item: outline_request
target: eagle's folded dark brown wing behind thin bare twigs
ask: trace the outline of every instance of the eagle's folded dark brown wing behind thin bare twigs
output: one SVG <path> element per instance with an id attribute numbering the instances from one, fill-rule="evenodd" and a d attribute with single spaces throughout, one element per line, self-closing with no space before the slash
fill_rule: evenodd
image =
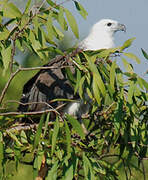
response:
<path id="1" fill-rule="evenodd" d="M 53 69 L 40 70 L 32 77 L 23 88 L 21 103 L 31 103 L 30 105 L 20 104 L 18 110 L 41 111 L 49 108 L 43 102 L 48 103 L 53 108 L 63 102 L 51 102 L 53 99 L 74 99 L 73 88 L 61 70 L 61 66 L 69 65 L 69 61 L 64 56 L 56 56 L 45 66 L 54 66 Z M 74 71 L 74 67 L 71 68 Z M 78 98 L 78 97 L 77 97 Z M 37 103 L 36 103 L 37 102 Z"/>

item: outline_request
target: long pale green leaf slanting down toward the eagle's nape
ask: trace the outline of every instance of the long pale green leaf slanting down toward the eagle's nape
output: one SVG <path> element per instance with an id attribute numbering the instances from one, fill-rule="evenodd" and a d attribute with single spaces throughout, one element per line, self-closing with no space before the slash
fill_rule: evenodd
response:
<path id="1" fill-rule="evenodd" d="M 64 11 L 72 32 L 74 33 L 76 38 L 79 38 L 79 30 L 75 18 L 68 9 L 65 8 Z"/>

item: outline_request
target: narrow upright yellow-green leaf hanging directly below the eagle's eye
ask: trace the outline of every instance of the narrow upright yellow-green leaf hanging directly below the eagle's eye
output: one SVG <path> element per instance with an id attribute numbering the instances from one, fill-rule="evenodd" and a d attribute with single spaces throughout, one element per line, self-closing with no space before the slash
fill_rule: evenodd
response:
<path id="1" fill-rule="evenodd" d="M 113 90 L 113 92 L 115 92 L 115 69 L 116 69 L 116 61 L 114 61 L 111 65 L 111 69 L 110 69 L 110 86 Z"/>

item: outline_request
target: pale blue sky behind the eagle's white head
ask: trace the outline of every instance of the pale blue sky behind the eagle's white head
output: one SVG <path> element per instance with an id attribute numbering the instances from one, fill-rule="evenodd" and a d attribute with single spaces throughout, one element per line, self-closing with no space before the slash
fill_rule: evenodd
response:
<path id="1" fill-rule="evenodd" d="M 148 70 L 148 60 L 141 53 L 141 48 L 148 52 L 148 0 L 79 0 L 79 2 L 88 12 L 86 20 L 77 13 L 72 2 L 67 2 L 65 7 L 71 10 L 77 20 L 80 38 L 84 38 L 91 26 L 102 18 L 114 19 L 125 24 L 127 32 L 116 33 L 115 43 L 122 45 L 127 39 L 136 37 L 127 51 L 136 54 L 141 59 L 141 64 L 130 62 L 133 63 L 136 73 L 148 80 L 148 75 L 144 75 Z"/>

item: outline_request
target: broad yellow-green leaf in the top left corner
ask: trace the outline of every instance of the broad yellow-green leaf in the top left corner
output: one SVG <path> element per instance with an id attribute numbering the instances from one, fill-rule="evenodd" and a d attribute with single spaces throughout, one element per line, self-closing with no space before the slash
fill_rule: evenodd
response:
<path id="1" fill-rule="evenodd" d="M 3 16 L 7 18 L 21 18 L 22 13 L 13 3 L 5 3 L 3 7 Z"/>

